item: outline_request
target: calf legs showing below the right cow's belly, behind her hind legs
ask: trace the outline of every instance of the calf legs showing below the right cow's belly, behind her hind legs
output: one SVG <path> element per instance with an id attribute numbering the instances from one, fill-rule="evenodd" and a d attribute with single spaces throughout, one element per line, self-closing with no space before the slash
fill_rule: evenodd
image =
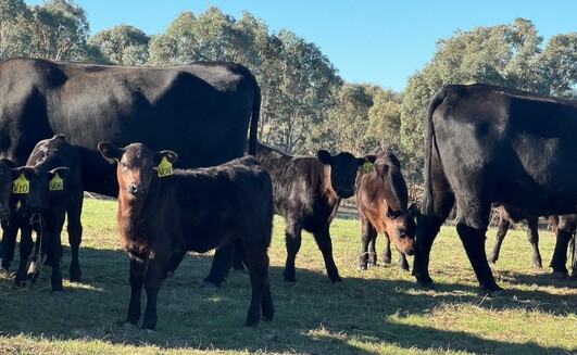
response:
<path id="1" fill-rule="evenodd" d="M 532 264 L 539 268 L 542 267 L 541 254 L 539 253 L 539 217 L 526 213 L 524 210 L 515 208 L 510 205 L 500 204 L 497 207 L 499 212 L 499 226 L 497 228 L 497 239 L 494 241 L 493 250 L 489 256 L 489 263 L 497 263 L 499 259 L 499 252 L 501 244 L 505 239 L 506 232 L 511 225 L 517 224 L 520 220 L 527 220 L 527 239 L 532 246 Z"/>

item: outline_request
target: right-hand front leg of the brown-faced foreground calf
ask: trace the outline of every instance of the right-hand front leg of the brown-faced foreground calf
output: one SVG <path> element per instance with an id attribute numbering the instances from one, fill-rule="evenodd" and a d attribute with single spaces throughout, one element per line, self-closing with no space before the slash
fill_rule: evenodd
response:
<path id="1" fill-rule="evenodd" d="M 156 302 L 160 287 L 166 275 L 168 259 L 173 255 L 170 250 L 153 251 L 154 257 L 149 261 L 145 274 L 145 291 L 147 292 L 147 306 L 142 317 L 142 329 L 156 328 Z"/>

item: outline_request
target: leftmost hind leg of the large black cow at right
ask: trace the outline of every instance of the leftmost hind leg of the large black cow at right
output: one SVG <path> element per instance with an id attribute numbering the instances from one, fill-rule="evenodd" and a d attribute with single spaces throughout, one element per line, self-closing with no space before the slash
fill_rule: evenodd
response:
<path id="1" fill-rule="evenodd" d="M 423 205 L 417 219 L 417 232 L 415 238 L 415 256 L 413 259 L 413 276 L 418 283 L 427 288 L 435 284 L 429 276 L 429 256 L 432 242 L 439 232 L 454 204 L 454 194 L 442 174 L 440 162 L 434 157 L 430 176 L 430 194 L 428 188 L 423 195 Z"/>

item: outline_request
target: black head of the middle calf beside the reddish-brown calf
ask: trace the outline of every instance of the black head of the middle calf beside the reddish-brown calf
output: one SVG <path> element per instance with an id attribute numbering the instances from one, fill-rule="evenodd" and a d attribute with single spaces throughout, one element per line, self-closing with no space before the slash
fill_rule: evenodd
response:
<path id="1" fill-rule="evenodd" d="M 348 152 L 330 155 L 326 150 L 319 150 L 316 154 L 318 161 L 330 166 L 330 185 L 339 198 L 348 199 L 354 194 L 355 178 L 359 166 L 365 162 L 374 163 L 375 155 L 355 157 Z"/>

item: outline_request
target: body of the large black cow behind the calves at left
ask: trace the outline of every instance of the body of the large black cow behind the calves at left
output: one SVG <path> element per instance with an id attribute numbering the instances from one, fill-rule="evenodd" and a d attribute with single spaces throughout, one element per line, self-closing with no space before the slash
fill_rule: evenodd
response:
<path id="1" fill-rule="evenodd" d="M 181 154 L 179 166 L 211 166 L 243 155 L 250 122 L 255 151 L 261 91 L 239 64 L 152 68 L 10 59 L 0 63 L 0 156 L 24 165 L 38 141 L 63 134 L 80 153 L 87 191 L 118 193 L 114 168 L 97 150 L 104 140 L 168 148 Z"/>

